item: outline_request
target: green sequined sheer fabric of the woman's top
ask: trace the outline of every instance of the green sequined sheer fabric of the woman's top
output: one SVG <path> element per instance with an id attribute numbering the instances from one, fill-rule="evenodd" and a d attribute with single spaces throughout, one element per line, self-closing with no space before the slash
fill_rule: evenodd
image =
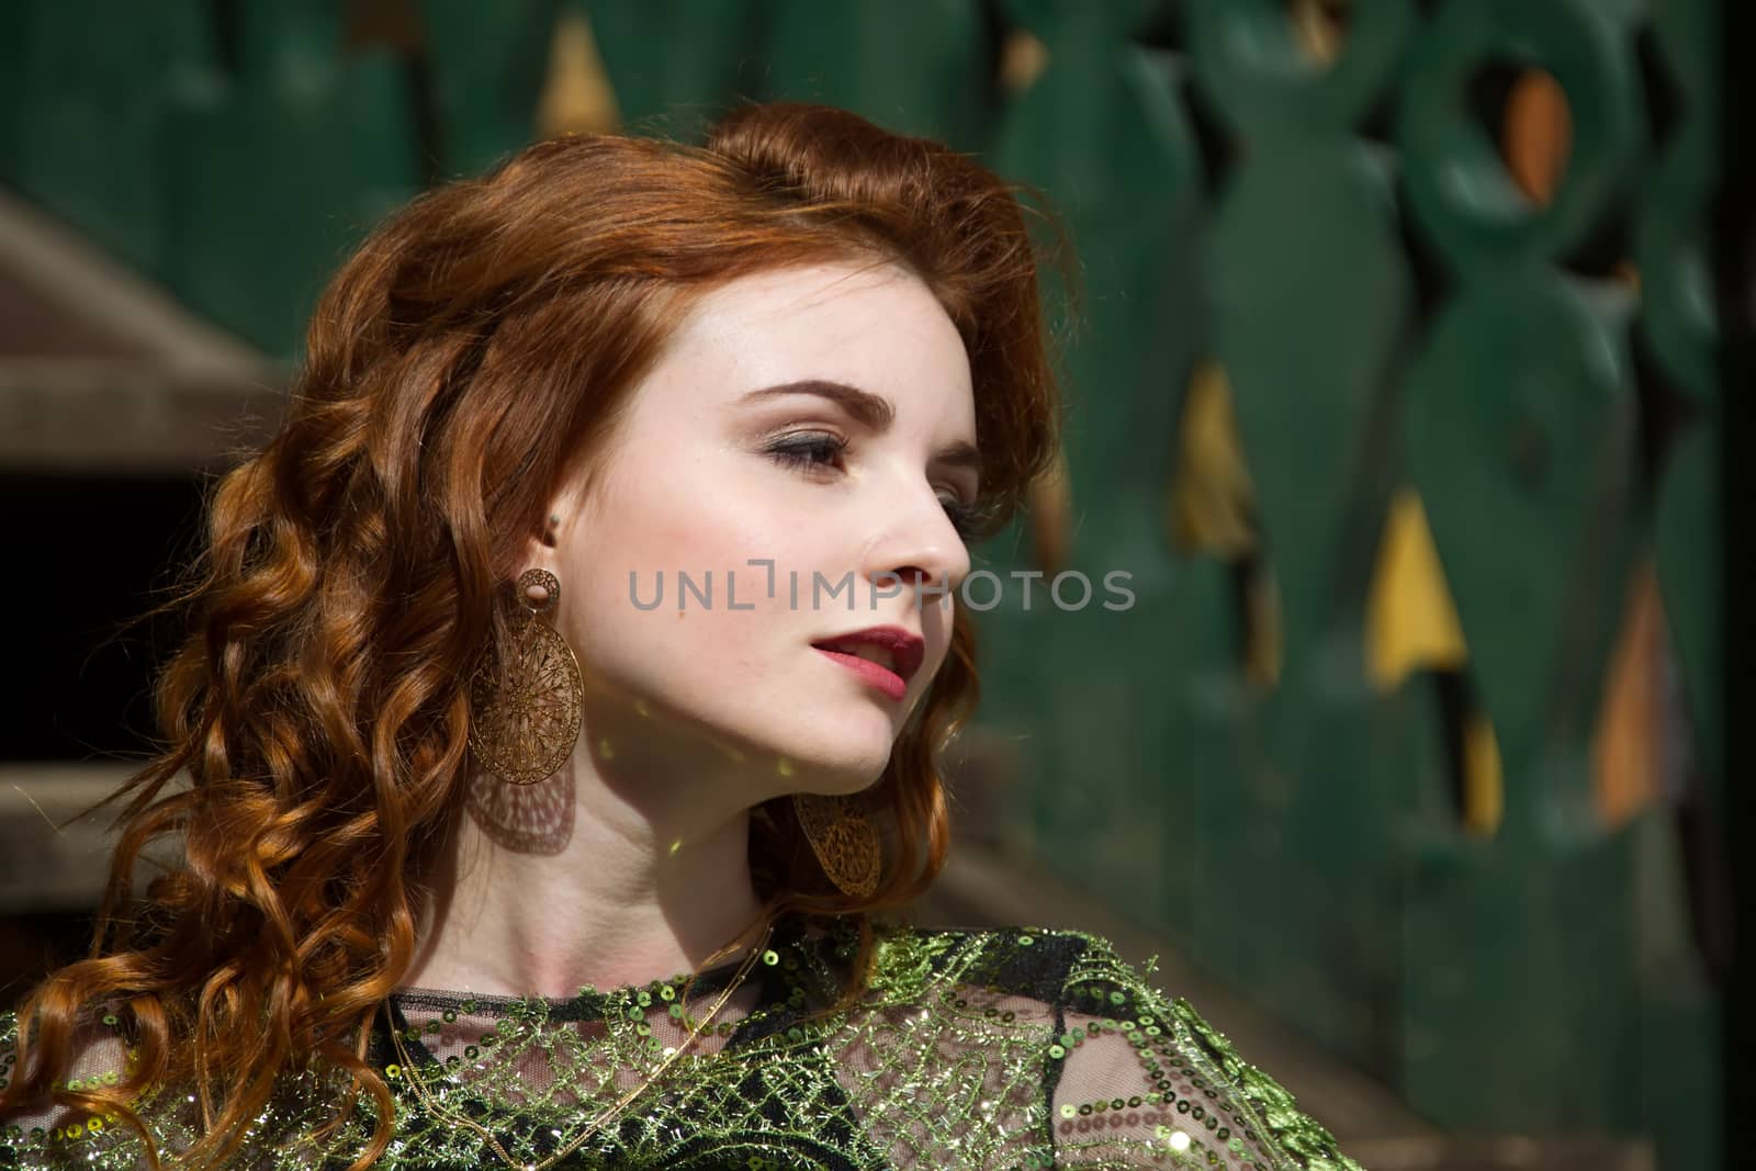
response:
<path id="1" fill-rule="evenodd" d="M 862 999 L 825 1015 L 853 946 L 843 922 L 778 925 L 695 1045 L 555 1167 L 1359 1171 L 1284 1088 L 1101 938 L 882 925 Z M 397 994 L 371 1039 L 397 1101 L 395 1139 L 378 1166 L 504 1166 L 476 1131 L 435 1117 L 414 1078 L 441 1111 L 472 1118 L 520 1164 L 544 1160 L 648 1078 L 732 974 L 702 973 L 687 1004 L 681 981 L 564 1001 Z M 0 1062 L 14 1060 L 14 1039 L 16 1022 L 0 1017 Z M 109 1050 L 125 1055 L 121 1041 Z M 102 1066 L 88 1060 L 79 1073 L 114 1080 L 114 1062 Z M 311 1141 L 334 1092 L 321 1074 L 286 1076 L 237 1166 L 346 1166 L 371 1115 L 360 1108 Z M 186 1094 L 162 1087 L 140 1106 L 162 1150 L 193 1139 Z M 144 1166 L 140 1152 L 137 1136 L 105 1118 L 9 1118 L 0 1131 L 0 1166 L 123 1171 Z"/>

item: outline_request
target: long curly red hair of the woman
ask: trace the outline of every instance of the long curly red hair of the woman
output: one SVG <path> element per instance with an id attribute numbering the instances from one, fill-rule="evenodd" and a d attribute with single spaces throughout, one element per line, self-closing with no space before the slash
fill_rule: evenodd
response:
<path id="1" fill-rule="evenodd" d="M 276 1080 L 318 1059 L 376 1099 L 355 1166 L 383 1152 L 392 1099 L 365 1041 L 411 966 L 420 876 L 464 802 L 464 681 L 499 634 L 497 590 L 694 298 L 848 258 L 906 267 L 962 334 L 997 527 L 1054 458 L 1036 249 L 1013 190 L 939 144 L 841 111 L 753 105 L 704 147 L 541 142 L 365 241 L 316 307 L 281 430 L 211 500 L 179 599 L 191 634 L 158 681 L 167 748 L 116 795 L 91 957 L 21 1008 L 0 1113 L 54 1103 L 144 1134 L 130 1101 L 184 1083 L 205 1127 L 188 1155 L 212 1166 Z M 871 899 L 827 883 L 790 802 L 757 809 L 752 866 L 771 913 L 855 915 L 869 945 L 867 911 L 931 885 L 948 836 L 936 753 L 976 686 L 959 611 L 873 788 L 890 857 Z M 130 874 L 156 841 L 181 862 L 137 894 Z M 116 1085 L 70 1090 L 98 1004 L 125 1022 L 133 1062 Z"/>

